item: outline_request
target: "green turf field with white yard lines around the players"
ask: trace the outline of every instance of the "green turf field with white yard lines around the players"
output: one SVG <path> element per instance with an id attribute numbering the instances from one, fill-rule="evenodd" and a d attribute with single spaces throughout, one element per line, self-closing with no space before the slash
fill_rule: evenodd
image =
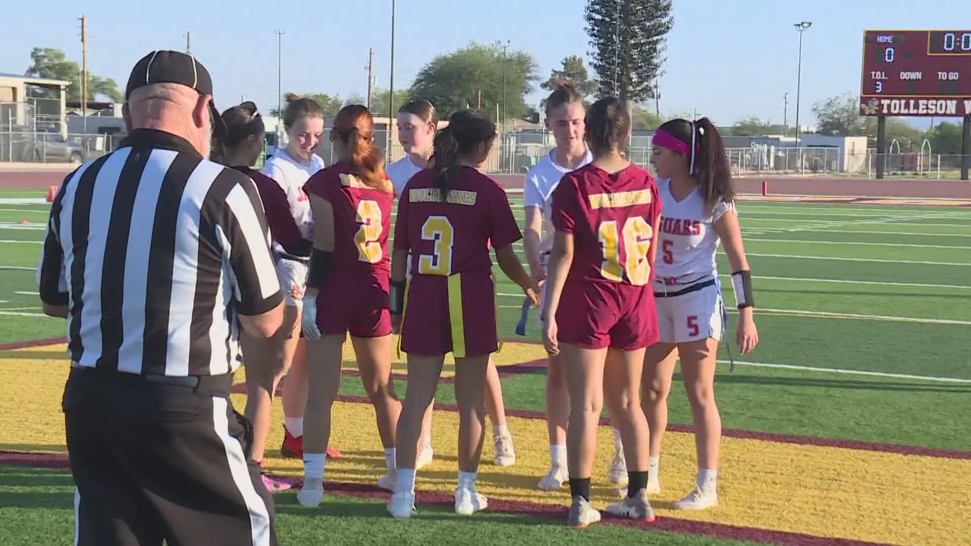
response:
<path id="1" fill-rule="evenodd" d="M 2 190 L 0 197 L 44 193 Z M 510 200 L 521 221 L 521 197 Z M 0 344 L 65 334 L 63 321 L 41 313 L 34 281 L 48 208 L 0 204 Z M 739 214 L 760 345 L 744 358 L 733 347 L 733 372 L 722 346 L 723 426 L 971 451 L 971 209 L 742 202 Z M 728 271 L 723 256 L 720 271 Z M 496 274 L 502 336 L 537 341 L 534 315 L 527 337 L 515 335 L 522 294 Z M 509 409 L 542 411 L 544 389 L 542 370 L 503 379 Z M 671 423 L 690 424 L 680 389 L 671 396 Z M 341 391 L 364 395 L 356 377 L 344 377 Z M 453 403 L 452 386 L 443 385 L 437 399 Z M 0 544 L 34 544 L 42 529 L 70 536 L 71 493 L 63 471 L 0 466 L 0 520 L 11 522 L 0 526 Z M 400 525 L 379 501 L 328 497 L 309 511 L 292 494 L 275 498 L 285 544 L 359 543 L 362 534 L 394 544 L 732 543 L 615 526 L 578 535 L 561 522 L 504 514 L 477 517 L 473 534 L 450 507 L 422 509 Z"/>

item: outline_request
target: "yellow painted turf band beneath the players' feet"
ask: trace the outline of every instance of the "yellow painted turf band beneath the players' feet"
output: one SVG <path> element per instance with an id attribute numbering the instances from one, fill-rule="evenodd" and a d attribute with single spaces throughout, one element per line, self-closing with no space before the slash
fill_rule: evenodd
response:
<path id="1" fill-rule="evenodd" d="M 0 397 L 0 450 L 65 453 L 61 390 L 68 373 L 64 346 L 0 352 L 5 395 Z M 234 394 L 242 409 L 245 396 Z M 374 484 L 385 472 L 382 446 L 368 404 L 337 403 L 331 446 L 344 457 L 327 463 L 327 480 Z M 301 462 L 273 457 L 282 440 L 283 414 L 274 405 L 274 427 L 267 466 L 299 475 Z M 479 489 L 494 498 L 565 504 L 568 493 L 536 489 L 549 463 L 546 424 L 510 417 L 517 463 L 491 464 L 486 433 Z M 419 471 L 418 488 L 451 493 L 455 487 L 458 416 L 439 411 L 433 425 L 435 461 Z M 966 491 L 971 461 L 904 456 L 886 452 L 724 438 L 720 470 L 720 506 L 700 513 L 670 509 L 693 482 L 693 437 L 669 432 L 661 458 L 658 514 L 693 521 L 801 532 L 825 537 L 893 544 L 971 544 Z M 600 427 L 593 473 L 594 504 L 615 498 L 607 488 L 613 456 L 610 428 Z"/>

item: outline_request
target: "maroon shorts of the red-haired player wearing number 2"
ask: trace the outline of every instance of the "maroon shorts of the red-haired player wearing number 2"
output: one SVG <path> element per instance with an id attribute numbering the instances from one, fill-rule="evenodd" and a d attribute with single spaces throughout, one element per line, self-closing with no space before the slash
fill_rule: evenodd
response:
<path id="1" fill-rule="evenodd" d="M 354 337 L 391 333 L 387 273 L 331 273 L 317 296 L 317 326 L 323 335 Z"/>

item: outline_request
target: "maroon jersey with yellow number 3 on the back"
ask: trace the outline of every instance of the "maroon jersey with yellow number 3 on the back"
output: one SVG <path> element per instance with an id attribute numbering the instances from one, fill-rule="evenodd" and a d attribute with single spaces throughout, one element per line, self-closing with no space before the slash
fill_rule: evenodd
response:
<path id="1" fill-rule="evenodd" d="M 506 191 L 462 167 L 443 202 L 431 170 L 412 177 L 398 201 L 394 248 L 411 251 L 413 275 L 491 274 L 489 241 L 503 248 L 522 233 Z"/>

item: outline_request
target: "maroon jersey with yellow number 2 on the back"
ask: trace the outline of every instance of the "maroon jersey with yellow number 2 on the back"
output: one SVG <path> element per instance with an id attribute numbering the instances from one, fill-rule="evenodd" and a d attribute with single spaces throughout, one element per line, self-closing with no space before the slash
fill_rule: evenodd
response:
<path id="1" fill-rule="evenodd" d="M 391 231 L 394 193 L 390 181 L 385 188 L 371 188 L 350 174 L 346 161 L 319 170 L 304 185 L 304 191 L 330 202 L 334 211 L 334 251 L 330 258 L 335 272 L 389 271 L 387 236 Z"/>

